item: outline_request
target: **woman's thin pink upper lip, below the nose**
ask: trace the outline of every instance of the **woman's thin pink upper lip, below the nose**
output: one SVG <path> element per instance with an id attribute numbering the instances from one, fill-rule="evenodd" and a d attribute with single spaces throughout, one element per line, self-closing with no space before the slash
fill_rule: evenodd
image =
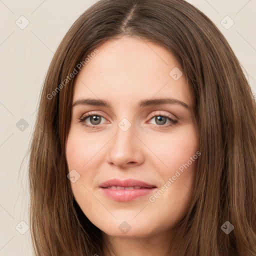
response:
<path id="1" fill-rule="evenodd" d="M 137 180 L 137 179 L 125 179 L 120 180 L 117 178 L 109 179 L 99 185 L 100 187 L 108 187 L 108 186 L 123 186 L 123 187 L 129 187 L 129 186 L 140 186 L 140 187 L 146 187 L 146 188 L 154 188 L 155 185 L 149 184 L 147 182 Z"/>

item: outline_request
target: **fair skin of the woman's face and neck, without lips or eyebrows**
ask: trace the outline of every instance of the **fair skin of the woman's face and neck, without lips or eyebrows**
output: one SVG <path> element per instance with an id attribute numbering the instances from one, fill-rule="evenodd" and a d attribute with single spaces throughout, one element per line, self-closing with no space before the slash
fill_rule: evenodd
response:
<path id="1" fill-rule="evenodd" d="M 69 171 L 75 169 L 80 177 L 71 183 L 72 192 L 84 214 L 111 240 L 116 255 L 163 255 L 167 235 L 174 235 L 173 226 L 188 210 L 197 160 L 153 202 L 149 196 L 155 191 L 120 202 L 106 197 L 99 185 L 111 178 L 138 179 L 158 189 L 166 184 L 198 150 L 192 94 L 184 74 L 177 80 L 169 75 L 181 67 L 161 45 L 123 36 L 97 49 L 76 77 L 73 102 L 104 99 L 111 108 L 73 106 L 66 159 Z M 162 97 L 178 99 L 190 108 L 178 103 L 138 106 L 140 100 Z M 88 112 L 103 116 L 100 123 L 90 118 L 79 122 Z M 156 119 L 159 115 L 177 122 L 167 118 L 162 124 Z M 123 118 L 131 124 L 126 131 L 118 126 Z M 85 123 L 96 123 L 98 128 Z M 123 221 L 131 227 L 126 233 L 118 228 Z"/>

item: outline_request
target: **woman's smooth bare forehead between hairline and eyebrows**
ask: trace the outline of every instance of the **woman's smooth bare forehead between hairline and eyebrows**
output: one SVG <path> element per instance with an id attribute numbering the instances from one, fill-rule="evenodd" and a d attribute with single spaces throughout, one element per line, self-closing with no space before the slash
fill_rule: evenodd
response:
<path id="1" fill-rule="evenodd" d="M 163 46 L 128 36 L 111 39 L 97 47 L 78 73 L 73 101 L 82 97 L 134 102 L 141 98 L 170 96 L 191 105 L 185 75 Z M 174 77 L 175 78 L 175 77 Z"/>

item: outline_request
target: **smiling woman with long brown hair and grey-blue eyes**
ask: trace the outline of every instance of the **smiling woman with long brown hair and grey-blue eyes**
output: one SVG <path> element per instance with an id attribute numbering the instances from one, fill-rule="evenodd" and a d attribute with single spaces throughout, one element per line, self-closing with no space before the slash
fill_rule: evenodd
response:
<path id="1" fill-rule="evenodd" d="M 255 255 L 256 105 L 183 0 L 100 0 L 48 69 L 30 149 L 36 255 Z"/>

